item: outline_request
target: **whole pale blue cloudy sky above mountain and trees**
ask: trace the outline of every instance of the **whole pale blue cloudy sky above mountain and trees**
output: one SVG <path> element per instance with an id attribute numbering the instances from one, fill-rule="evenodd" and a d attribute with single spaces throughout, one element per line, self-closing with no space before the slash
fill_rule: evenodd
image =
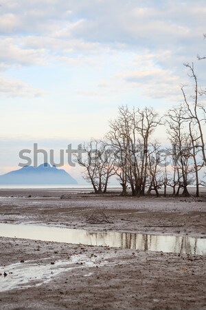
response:
<path id="1" fill-rule="evenodd" d="M 183 63 L 205 85 L 205 16 L 205 0 L 1 0 L 0 174 L 34 143 L 58 156 L 104 137 L 120 105 L 178 105 Z"/>

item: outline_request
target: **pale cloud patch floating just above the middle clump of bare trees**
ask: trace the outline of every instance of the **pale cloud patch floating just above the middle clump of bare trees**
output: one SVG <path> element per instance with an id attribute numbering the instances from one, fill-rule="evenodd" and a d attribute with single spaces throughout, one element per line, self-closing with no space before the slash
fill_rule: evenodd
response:
<path id="1" fill-rule="evenodd" d="M 185 78 L 176 74 L 178 70 L 175 70 L 175 66 L 173 70 L 165 67 L 164 62 L 172 63 L 171 57 L 170 51 L 157 54 L 145 51 L 134 55 L 130 70 L 122 70 L 117 74 L 117 79 L 123 79 L 128 87 L 136 87 L 147 98 L 179 101 L 182 99 L 180 85 Z"/>

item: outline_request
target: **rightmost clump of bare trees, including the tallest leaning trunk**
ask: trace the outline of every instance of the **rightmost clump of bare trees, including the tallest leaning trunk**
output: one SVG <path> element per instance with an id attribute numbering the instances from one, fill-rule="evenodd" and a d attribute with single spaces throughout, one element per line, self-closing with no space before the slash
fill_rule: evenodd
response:
<path id="1" fill-rule="evenodd" d="M 189 196 L 187 185 L 195 185 L 196 196 L 199 196 L 199 185 L 205 185 L 199 172 L 206 165 L 203 136 L 206 122 L 203 99 L 206 92 L 198 88 L 194 65 L 185 64 L 185 67 L 194 82 L 193 93 L 187 94 L 186 87 L 181 87 L 183 103 L 170 109 L 166 118 L 169 140 L 173 145 L 172 186 L 178 186 L 177 194 L 182 187 L 183 194 Z"/>

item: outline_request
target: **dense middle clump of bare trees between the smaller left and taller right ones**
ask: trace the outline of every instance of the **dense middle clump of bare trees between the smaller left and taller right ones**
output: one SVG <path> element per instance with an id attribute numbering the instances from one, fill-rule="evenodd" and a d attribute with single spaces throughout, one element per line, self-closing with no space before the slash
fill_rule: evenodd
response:
<path id="1" fill-rule="evenodd" d="M 154 148 L 150 143 L 151 136 L 160 123 L 155 110 L 148 107 L 144 110 L 133 108 L 132 111 L 128 107 L 119 107 L 119 115 L 110 121 L 106 141 L 115 154 L 115 173 L 122 185 L 122 194 L 126 194 L 128 185 L 133 196 L 145 194 L 148 172 L 152 176 L 150 166 L 153 168 L 150 165 Z M 153 177 L 151 184 L 155 186 Z"/>

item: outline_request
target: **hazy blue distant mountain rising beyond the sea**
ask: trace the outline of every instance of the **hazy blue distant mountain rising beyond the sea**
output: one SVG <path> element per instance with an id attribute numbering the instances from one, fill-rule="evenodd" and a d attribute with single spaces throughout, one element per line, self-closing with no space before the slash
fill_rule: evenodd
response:
<path id="1" fill-rule="evenodd" d="M 55 185 L 78 184 L 64 169 L 57 169 L 48 163 L 38 167 L 25 166 L 0 176 L 1 185 Z"/>

